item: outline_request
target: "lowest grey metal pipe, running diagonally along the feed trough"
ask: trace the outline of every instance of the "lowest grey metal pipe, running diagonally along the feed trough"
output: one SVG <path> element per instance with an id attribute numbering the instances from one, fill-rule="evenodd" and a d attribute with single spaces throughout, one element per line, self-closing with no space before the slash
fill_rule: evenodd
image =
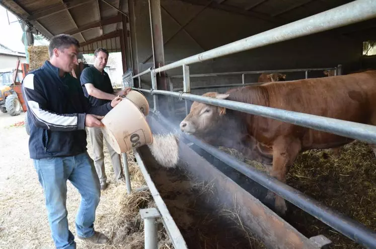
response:
<path id="1" fill-rule="evenodd" d="M 156 115 L 156 114 L 155 114 Z M 161 114 L 156 115 L 160 118 L 168 127 L 172 127 L 166 117 Z M 176 130 L 176 129 L 174 129 Z M 220 151 L 219 149 L 202 142 L 192 135 L 186 135 L 179 132 L 186 139 L 196 144 L 201 149 L 205 150 L 209 154 L 218 158 L 222 162 L 228 164 L 234 169 L 238 170 L 242 174 L 248 176 L 254 181 L 260 183 L 268 190 L 281 196 L 283 199 L 297 206 L 298 208 L 313 215 L 315 218 L 321 220 L 328 226 L 336 229 L 345 236 L 354 240 L 355 242 L 368 246 L 369 248 L 375 248 L 376 246 L 376 233 L 363 224 L 346 217 L 345 215 L 336 212 L 324 204 L 316 201 L 315 199 L 305 195 L 304 193 L 295 190 L 289 185 L 277 180 L 276 178 L 267 175 L 254 167 L 250 167 L 248 164 L 237 160 L 235 157 Z"/>

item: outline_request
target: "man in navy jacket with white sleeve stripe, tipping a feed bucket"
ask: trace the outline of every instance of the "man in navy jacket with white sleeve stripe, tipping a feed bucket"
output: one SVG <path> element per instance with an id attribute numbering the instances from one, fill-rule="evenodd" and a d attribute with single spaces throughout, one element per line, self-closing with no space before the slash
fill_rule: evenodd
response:
<path id="1" fill-rule="evenodd" d="M 79 42 L 69 35 L 54 36 L 50 59 L 30 72 L 22 82 L 27 103 L 29 151 L 46 199 L 48 222 L 56 248 L 76 248 L 68 229 L 66 181 L 81 194 L 76 217 L 77 236 L 94 243 L 108 238 L 94 230 L 100 200 L 99 178 L 87 153 L 85 127 L 101 127 L 100 121 L 120 102 L 93 107 L 78 79 L 69 75 L 78 63 Z M 98 115 L 98 116 L 97 116 Z"/>

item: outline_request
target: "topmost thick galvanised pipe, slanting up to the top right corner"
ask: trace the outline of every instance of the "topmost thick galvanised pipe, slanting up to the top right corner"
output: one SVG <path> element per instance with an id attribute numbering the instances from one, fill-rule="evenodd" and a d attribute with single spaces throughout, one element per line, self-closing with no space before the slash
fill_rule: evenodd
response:
<path id="1" fill-rule="evenodd" d="M 335 29 L 376 17 L 376 1 L 356 0 L 337 8 L 307 17 L 166 65 L 156 73 L 193 63 L 262 47 L 322 31 Z"/>

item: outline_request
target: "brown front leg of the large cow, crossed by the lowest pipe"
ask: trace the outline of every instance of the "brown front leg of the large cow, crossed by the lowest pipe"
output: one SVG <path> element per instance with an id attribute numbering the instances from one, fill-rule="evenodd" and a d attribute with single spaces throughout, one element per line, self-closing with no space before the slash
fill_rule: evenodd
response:
<path id="1" fill-rule="evenodd" d="M 286 183 L 288 168 L 301 149 L 302 146 L 298 139 L 279 137 L 273 144 L 273 167 L 270 175 Z M 274 206 L 276 211 L 282 215 L 287 211 L 285 200 L 278 195 L 275 197 Z"/>

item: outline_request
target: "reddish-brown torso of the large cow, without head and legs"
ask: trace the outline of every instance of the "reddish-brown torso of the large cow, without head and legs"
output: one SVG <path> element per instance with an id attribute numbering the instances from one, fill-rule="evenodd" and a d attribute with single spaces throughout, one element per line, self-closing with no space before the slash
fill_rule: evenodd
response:
<path id="1" fill-rule="evenodd" d="M 244 87 L 232 91 L 228 99 L 376 125 L 376 71 Z M 278 136 L 299 137 L 305 149 L 349 142 L 347 138 L 271 118 L 247 115 L 245 121 L 249 133 L 267 145 Z"/>

